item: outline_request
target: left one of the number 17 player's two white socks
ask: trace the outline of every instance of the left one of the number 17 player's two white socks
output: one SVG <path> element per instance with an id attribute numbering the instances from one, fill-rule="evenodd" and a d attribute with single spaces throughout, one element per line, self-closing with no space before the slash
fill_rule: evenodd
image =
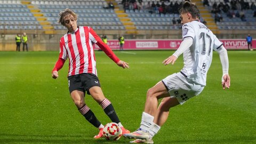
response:
<path id="1" fill-rule="evenodd" d="M 154 116 L 149 115 L 148 113 L 143 112 L 141 117 L 140 129 L 142 131 L 149 131 L 151 124 L 153 123 Z"/>

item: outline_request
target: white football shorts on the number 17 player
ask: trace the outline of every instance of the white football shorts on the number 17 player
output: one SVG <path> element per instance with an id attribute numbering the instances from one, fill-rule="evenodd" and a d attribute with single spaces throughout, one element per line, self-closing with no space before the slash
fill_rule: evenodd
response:
<path id="1" fill-rule="evenodd" d="M 180 105 L 200 94 L 204 86 L 190 81 L 186 75 L 175 73 L 162 80 L 171 97 L 176 97 Z"/>

